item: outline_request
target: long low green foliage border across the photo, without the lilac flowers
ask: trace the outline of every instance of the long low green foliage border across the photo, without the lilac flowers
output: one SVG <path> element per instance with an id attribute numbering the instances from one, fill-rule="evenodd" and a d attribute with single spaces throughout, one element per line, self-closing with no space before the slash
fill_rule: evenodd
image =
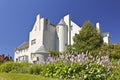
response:
<path id="1" fill-rule="evenodd" d="M 120 66 L 113 69 L 94 61 L 88 63 L 64 62 L 59 61 L 50 64 L 34 64 L 6 62 L 0 65 L 0 72 L 6 73 L 30 73 L 35 75 L 43 75 L 45 77 L 54 77 L 61 79 L 79 79 L 79 80 L 106 80 L 120 78 Z M 112 77 L 114 76 L 114 77 Z M 116 77 L 115 77 L 116 76 Z"/>

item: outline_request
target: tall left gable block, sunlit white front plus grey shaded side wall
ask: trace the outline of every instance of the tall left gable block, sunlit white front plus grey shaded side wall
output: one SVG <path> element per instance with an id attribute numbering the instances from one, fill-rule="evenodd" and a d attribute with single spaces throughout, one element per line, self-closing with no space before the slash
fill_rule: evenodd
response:
<path id="1" fill-rule="evenodd" d="M 31 45 L 34 39 L 36 39 L 36 44 Z M 51 25 L 48 19 L 37 17 L 36 25 L 29 35 L 29 61 L 31 63 L 31 53 L 35 53 L 43 45 L 47 51 L 55 50 L 55 26 Z"/>

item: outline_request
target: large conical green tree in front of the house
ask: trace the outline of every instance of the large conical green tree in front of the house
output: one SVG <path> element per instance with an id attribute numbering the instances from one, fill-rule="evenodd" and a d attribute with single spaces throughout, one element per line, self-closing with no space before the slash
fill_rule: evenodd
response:
<path id="1" fill-rule="evenodd" d="M 84 23 L 81 31 L 74 36 L 73 40 L 73 47 L 77 53 L 98 49 L 103 44 L 101 33 L 93 27 L 90 21 Z"/>

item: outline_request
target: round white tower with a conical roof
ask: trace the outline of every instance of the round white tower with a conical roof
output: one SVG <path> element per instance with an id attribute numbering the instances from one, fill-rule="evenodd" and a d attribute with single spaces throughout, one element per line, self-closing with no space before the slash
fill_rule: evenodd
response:
<path id="1" fill-rule="evenodd" d="M 57 34 L 59 38 L 59 51 L 63 52 L 66 50 L 68 45 L 68 27 L 63 19 L 61 19 L 61 21 L 58 23 L 57 29 Z"/>

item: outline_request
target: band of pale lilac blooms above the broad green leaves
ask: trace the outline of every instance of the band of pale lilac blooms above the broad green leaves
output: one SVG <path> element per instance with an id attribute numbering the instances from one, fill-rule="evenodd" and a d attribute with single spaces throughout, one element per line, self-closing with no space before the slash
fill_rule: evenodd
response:
<path id="1" fill-rule="evenodd" d="M 59 62 L 59 61 L 63 61 L 64 63 L 78 62 L 80 64 L 87 64 L 90 62 L 94 62 L 96 64 L 100 64 L 100 65 L 107 66 L 107 67 L 110 67 L 112 65 L 110 62 L 109 56 L 106 55 L 106 56 L 93 57 L 92 55 L 90 55 L 90 53 L 49 56 L 45 63 L 50 64 L 50 63 L 55 63 L 55 62 Z"/>

